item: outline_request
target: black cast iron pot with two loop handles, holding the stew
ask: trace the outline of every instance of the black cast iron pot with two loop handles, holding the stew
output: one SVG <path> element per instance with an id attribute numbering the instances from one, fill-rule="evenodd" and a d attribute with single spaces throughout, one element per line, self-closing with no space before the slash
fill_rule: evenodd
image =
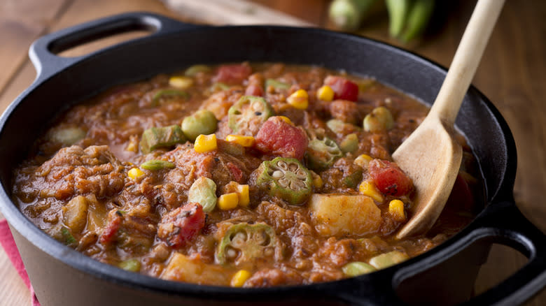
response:
<path id="1" fill-rule="evenodd" d="M 150 36 L 82 57 L 57 52 L 124 31 Z M 48 237 L 10 200 L 12 169 L 59 110 L 104 89 L 196 63 L 283 61 L 372 75 L 422 101 L 434 101 L 446 73 L 432 62 L 384 43 L 321 29 L 203 27 L 149 13 L 127 13 L 39 38 L 30 50 L 38 75 L 0 119 L 0 208 L 8 219 L 36 296 L 59 305 L 513 305 L 546 283 L 546 238 L 512 198 L 514 140 L 498 110 L 470 88 L 456 121 L 484 177 L 484 210 L 439 247 L 370 275 L 269 289 L 167 282 L 99 263 Z M 473 297 L 491 243 L 529 261 L 498 286 Z"/>

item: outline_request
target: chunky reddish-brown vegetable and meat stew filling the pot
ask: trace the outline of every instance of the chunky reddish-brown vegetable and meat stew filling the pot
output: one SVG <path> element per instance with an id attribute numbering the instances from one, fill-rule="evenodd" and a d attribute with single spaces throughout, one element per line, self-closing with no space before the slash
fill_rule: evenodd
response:
<path id="1" fill-rule="evenodd" d="M 426 252 L 479 210 L 460 136 L 437 224 L 393 238 L 413 185 L 391 153 L 427 111 L 343 71 L 191 66 L 69 108 L 15 169 L 13 198 L 52 238 L 144 275 L 245 287 L 353 277 Z"/>

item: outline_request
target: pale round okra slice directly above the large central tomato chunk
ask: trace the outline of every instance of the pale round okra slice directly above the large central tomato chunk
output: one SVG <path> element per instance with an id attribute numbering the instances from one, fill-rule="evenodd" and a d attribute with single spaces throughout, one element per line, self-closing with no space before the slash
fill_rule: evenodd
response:
<path id="1" fill-rule="evenodd" d="M 265 99 L 257 96 L 241 96 L 230 110 L 228 122 L 235 133 L 254 136 L 267 118 L 273 115 L 273 108 Z"/>

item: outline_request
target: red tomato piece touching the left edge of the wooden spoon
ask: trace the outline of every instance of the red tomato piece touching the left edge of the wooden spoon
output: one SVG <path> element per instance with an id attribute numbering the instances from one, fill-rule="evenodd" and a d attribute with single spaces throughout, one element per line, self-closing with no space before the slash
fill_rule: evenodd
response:
<path id="1" fill-rule="evenodd" d="M 413 189 L 412 180 L 395 163 L 374 159 L 368 169 L 375 186 L 383 194 L 404 196 Z"/>

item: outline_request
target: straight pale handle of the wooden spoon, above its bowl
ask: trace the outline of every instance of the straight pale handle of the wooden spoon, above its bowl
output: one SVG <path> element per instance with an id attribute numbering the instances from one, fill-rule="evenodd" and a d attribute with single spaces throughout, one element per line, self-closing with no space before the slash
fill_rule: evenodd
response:
<path id="1" fill-rule="evenodd" d="M 445 126 L 453 126 L 455 122 L 504 2 L 479 0 L 474 8 L 440 92 L 430 109 L 430 117 L 438 117 Z"/>

